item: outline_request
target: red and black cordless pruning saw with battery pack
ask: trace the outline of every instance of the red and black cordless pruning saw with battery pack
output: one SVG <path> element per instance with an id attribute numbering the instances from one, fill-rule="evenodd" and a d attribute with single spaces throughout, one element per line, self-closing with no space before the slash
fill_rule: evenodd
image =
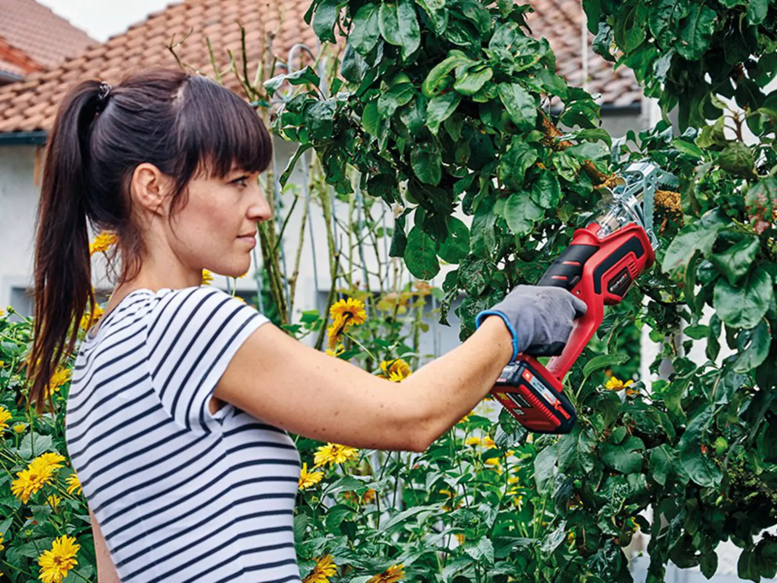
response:
<path id="1" fill-rule="evenodd" d="M 653 233 L 653 195 L 657 187 L 676 187 L 677 178 L 650 162 L 635 162 L 605 189 L 598 218 L 577 229 L 572 243 L 549 267 L 538 285 L 566 288 L 588 306 L 575 320 L 561 354 L 546 366 L 519 354 L 503 368 L 490 393 L 529 431 L 569 433 L 577 414 L 563 394 L 563 379 L 594 336 L 605 305 L 622 301 L 629 287 L 653 265 L 658 239 Z"/>

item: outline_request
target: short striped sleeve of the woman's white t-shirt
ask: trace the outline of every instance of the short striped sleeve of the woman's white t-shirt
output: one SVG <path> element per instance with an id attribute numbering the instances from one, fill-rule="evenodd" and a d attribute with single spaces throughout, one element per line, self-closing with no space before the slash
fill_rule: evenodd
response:
<path id="1" fill-rule="evenodd" d="M 181 427 L 211 432 L 211 396 L 229 361 L 256 328 L 270 320 L 218 288 L 173 290 L 149 315 L 151 384 Z"/>

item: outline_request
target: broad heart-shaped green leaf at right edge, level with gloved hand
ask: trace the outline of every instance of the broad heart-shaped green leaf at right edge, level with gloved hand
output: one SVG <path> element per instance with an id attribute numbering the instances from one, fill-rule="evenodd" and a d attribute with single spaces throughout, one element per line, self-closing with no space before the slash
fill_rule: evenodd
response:
<path id="1" fill-rule="evenodd" d="M 740 288 L 719 279 L 713 291 L 713 307 L 726 326 L 753 328 L 766 315 L 773 295 L 772 278 L 765 269 L 756 267 Z"/>

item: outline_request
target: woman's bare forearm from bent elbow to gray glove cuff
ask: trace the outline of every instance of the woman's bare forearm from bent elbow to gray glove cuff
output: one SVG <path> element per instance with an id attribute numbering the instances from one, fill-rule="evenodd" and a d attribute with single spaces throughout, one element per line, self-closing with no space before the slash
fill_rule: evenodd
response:
<path id="1" fill-rule="evenodd" d="M 507 326 L 499 316 L 489 316 L 465 342 L 402 381 L 416 395 L 423 444 L 434 442 L 483 400 L 512 355 Z"/>

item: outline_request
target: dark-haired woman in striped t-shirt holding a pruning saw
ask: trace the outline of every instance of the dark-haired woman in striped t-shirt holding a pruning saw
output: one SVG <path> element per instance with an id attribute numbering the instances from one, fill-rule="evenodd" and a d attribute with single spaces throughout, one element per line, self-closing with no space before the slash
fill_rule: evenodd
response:
<path id="1" fill-rule="evenodd" d="M 518 286 L 399 385 L 301 344 L 200 287 L 204 268 L 248 271 L 256 223 L 270 218 L 257 180 L 270 148 L 235 93 L 172 69 L 113 88 L 82 82 L 57 113 L 37 216 L 30 401 L 40 412 L 75 347 L 71 323 L 94 305 L 88 218 L 117 233 L 121 259 L 79 348 L 66 417 L 101 583 L 299 581 L 300 460 L 287 431 L 421 452 L 518 352 L 563 344 L 585 310 L 564 290 Z"/>

